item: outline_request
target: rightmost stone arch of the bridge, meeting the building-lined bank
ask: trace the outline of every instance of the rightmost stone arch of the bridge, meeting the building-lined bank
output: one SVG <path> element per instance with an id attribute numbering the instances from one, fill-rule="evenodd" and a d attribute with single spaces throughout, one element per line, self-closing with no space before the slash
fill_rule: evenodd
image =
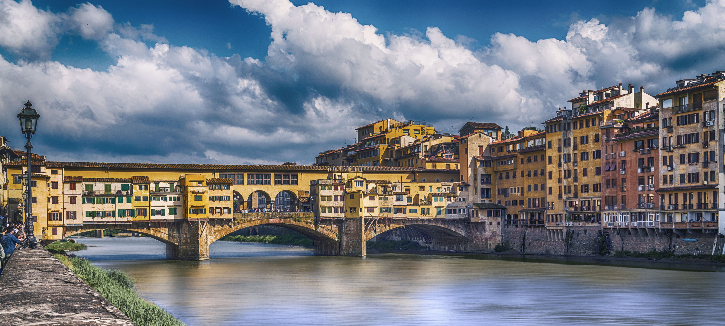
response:
<path id="1" fill-rule="evenodd" d="M 377 222 L 377 223 L 376 223 Z M 419 230 L 431 238 L 449 239 L 449 240 L 465 240 L 465 230 L 463 227 L 459 227 L 455 222 L 448 222 L 444 220 L 411 220 L 403 223 L 389 223 L 386 221 L 373 221 L 365 223 L 365 241 L 375 238 L 381 233 L 396 229 L 398 227 L 410 227 L 415 230 Z"/>

